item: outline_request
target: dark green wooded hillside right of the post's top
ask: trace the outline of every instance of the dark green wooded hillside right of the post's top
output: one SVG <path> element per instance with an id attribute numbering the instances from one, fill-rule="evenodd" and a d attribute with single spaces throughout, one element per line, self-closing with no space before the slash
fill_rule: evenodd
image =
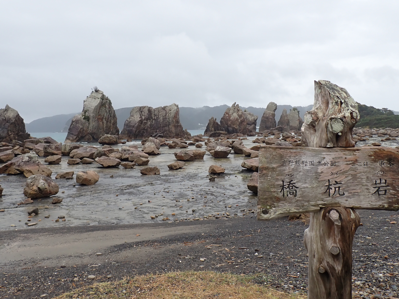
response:
<path id="1" fill-rule="evenodd" d="M 387 108 L 377 109 L 358 103 L 360 120 L 356 127 L 367 128 L 399 128 L 399 115 Z"/>

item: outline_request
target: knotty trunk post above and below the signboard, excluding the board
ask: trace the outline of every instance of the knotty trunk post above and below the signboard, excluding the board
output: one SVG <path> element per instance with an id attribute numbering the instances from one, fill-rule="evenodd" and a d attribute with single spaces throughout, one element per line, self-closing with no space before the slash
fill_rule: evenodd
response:
<path id="1" fill-rule="evenodd" d="M 305 113 L 302 143 L 309 147 L 354 147 L 358 104 L 330 81 L 314 81 L 314 105 Z M 352 298 L 352 242 L 360 223 L 356 210 L 322 208 L 310 214 L 304 233 L 309 254 L 308 298 Z"/>

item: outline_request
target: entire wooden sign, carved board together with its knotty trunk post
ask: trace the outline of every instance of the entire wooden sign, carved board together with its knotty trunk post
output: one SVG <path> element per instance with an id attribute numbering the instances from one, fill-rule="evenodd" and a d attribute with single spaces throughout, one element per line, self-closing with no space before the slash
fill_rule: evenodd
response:
<path id="1" fill-rule="evenodd" d="M 259 152 L 258 220 L 311 212 L 304 244 L 309 255 L 308 298 L 352 298 L 355 209 L 399 209 L 399 151 L 354 148 L 357 104 L 346 89 L 315 81 L 302 142 Z"/>

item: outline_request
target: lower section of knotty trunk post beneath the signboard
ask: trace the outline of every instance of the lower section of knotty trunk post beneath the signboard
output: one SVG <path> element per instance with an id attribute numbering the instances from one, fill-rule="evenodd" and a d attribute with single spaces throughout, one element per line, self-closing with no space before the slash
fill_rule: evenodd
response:
<path id="1" fill-rule="evenodd" d="M 359 224 L 360 217 L 351 208 L 323 208 L 310 214 L 304 233 L 309 299 L 352 298 L 352 242 Z"/>

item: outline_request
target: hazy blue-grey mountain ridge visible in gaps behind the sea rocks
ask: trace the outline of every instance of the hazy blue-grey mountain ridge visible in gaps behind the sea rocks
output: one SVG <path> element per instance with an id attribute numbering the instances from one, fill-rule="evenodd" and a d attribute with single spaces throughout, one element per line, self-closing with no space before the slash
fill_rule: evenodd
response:
<path id="1" fill-rule="evenodd" d="M 208 124 L 209 118 L 212 116 L 215 117 L 218 121 L 222 118 L 224 112 L 230 106 L 228 105 L 220 105 L 220 106 L 203 106 L 198 108 L 192 107 L 179 107 L 180 110 L 180 122 L 184 129 L 187 130 L 200 130 L 205 128 Z M 306 111 L 311 110 L 313 105 L 309 105 L 306 107 L 302 106 L 294 106 L 298 108 L 300 111 L 300 117 L 303 119 Z M 115 114 L 118 119 L 118 128 L 122 131 L 124 122 L 130 116 L 130 111 L 133 107 L 125 107 L 115 109 Z M 256 107 L 242 107 L 240 108 L 244 111 L 247 110 L 258 116 L 257 124 L 261 122 L 261 118 L 263 112 L 265 112 L 266 108 L 256 108 Z M 277 105 L 276 110 L 276 122 L 279 121 L 282 110 L 287 109 L 290 112 L 290 109 L 293 107 L 291 105 Z M 25 124 L 26 132 L 31 133 L 44 133 L 44 132 L 68 132 L 68 128 L 71 125 L 72 118 L 78 113 L 69 113 L 69 114 L 58 114 L 54 116 L 48 116 L 43 118 L 38 118 L 37 120 L 33 120 L 32 122 Z"/>

